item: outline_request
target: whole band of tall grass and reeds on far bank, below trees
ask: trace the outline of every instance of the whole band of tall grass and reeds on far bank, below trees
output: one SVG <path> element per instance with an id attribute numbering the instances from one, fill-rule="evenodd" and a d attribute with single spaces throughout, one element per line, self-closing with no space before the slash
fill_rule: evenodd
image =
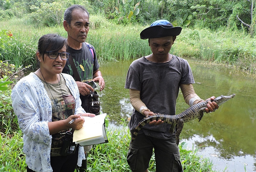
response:
<path id="1" fill-rule="evenodd" d="M 140 39 L 140 32 L 148 26 L 116 25 L 100 14 L 90 16 L 90 21 L 87 42 L 96 48 L 100 62 L 136 59 L 151 54 L 148 40 Z M 1 21 L 0 31 L 3 29 L 12 31 L 13 37 L 0 49 L 0 60 L 11 60 L 16 66 L 33 64 L 35 67 L 37 42 L 43 34 L 59 33 L 67 37 L 62 25 L 35 28 L 26 18 Z M 180 57 L 230 64 L 256 74 L 255 47 L 256 39 L 250 38 L 243 31 L 183 28 L 171 53 Z"/>

